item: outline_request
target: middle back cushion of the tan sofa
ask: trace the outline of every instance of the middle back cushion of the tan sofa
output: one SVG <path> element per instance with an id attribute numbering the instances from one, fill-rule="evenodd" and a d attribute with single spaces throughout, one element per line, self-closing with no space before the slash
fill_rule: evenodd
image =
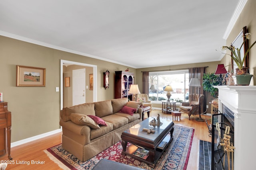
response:
<path id="1" fill-rule="evenodd" d="M 105 100 L 102 102 L 94 102 L 95 115 L 98 117 L 104 117 L 113 114 L 113 107 L 111 100 Z"/>

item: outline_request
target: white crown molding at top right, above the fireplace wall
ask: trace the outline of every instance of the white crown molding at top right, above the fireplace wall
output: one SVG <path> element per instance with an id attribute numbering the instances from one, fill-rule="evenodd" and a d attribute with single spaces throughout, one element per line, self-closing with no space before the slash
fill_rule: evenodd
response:
<path id="1" fill-rule="evenodd" d="M 228 23 L 228 27 L 223 35 L 223 39 L 228 39 L 228 36 L 231 32 L 231 30 L 233 29 L 238 17 L 240 16 L 242 10 L 244 9 L 244 6 L 246 4 L 248 0 L 240 0 L 238 2 L 238 5 L 236 6 L 236 10 L 234 11 L 234 14 L 232 16 L 232 18 L 230 19 L 229 23 Z"/>

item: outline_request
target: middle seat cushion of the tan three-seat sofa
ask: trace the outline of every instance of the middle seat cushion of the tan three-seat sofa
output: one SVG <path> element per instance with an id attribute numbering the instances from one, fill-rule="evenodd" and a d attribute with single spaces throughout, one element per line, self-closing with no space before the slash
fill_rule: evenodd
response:
<path id="1" fill-rule="evenodd" d="M 113 124 L 113 130 L 118 129 L 119 127 L 122 127 L 122 126 L 128 124 L 128 118 L 118 116 L 118 115 L 114 115 L 114 114 L 104 116 L 104 117 L 102 117 L 102 119 L 105 122 L 112 123 Z"/>

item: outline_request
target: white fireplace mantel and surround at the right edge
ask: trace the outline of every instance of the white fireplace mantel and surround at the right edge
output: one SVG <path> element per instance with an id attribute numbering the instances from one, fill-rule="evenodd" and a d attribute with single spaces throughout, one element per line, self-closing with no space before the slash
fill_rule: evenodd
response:
<path id="1" fill-rule="evenodd" d="M 234 170 L 255 168 L 256 86 L 214 86 L 222 104 L 234 112 Z"/>

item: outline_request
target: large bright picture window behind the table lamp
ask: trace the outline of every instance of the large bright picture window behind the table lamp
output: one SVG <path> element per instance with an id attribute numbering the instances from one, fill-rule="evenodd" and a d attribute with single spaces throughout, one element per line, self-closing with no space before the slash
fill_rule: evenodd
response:
<path id="1" fill-rule="evenodd" d="M 149 88 L 154 85 L 156 90 L 149 89 L 149 98 L 154 101 L 167 100 L 164 88 L 172 86 L 170 100 L 184 102 L 188 100 L 188 70 L 161 71 L 149 73 Z"/>

